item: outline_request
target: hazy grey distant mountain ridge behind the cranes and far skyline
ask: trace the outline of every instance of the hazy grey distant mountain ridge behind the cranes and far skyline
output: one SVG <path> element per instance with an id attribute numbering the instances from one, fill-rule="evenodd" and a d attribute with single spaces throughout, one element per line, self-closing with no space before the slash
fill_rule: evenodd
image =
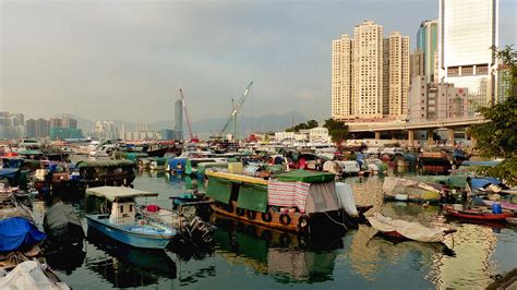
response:
<path id="1" fill-rule="evenodd" d="M 94 125 L 94 121 L 82 118 L 80 116 L 71 116 L 72 118 L 77 120 L 77 128 L 82 129 L 83 132 L 91 132 Z M 115 122 L 119 130 L 122 129 L 122 124 L 125 124 L 127 131 L 134 131 L 136 130 L 137 124 L 133 122 L 127 122 L 122 120 L 111 120 Z M 223 128 L 223 125 L 228 121 L 228 118 L 213 118 L 213 119 L 205 119 L 200 121 L 192 122 L 192 131 L 197 133 L 202 136 L 216 133 L 218 130 Z M 238 124 L 238 134 L 242 136 L 242 134 L 248 135 L 251 132 L 276 132 L 282 131 L 287 128 L 294 124 L 306 122 L 309 118 L 301 112 L 291 111 L 281 114 L 264 114 L 261 117 L 239 117 L 237 120 Z M 159 131 L 161 129 L 172 129 L 175 125 L 173 120 L 164 120 L 158 122 L 153 122 L 148 124 L 149 130 Z M 185 134 L 188 134 L 187 122 L 183 121 L 183 130 Z M 233 132 L 233 123 L 231 122 L 227 130 L 229 133 Z"/>

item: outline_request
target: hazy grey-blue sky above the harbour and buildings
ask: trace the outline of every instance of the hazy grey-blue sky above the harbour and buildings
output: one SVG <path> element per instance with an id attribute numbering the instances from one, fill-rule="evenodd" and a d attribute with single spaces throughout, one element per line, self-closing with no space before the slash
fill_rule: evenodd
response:
<path id="1" fill-rule="evenodd" d="M 501 0 L 500 45 L 516 44 L 517 1 Z M 254 82 L 245 116 L 330 113 L 330 44 L 373 20 L 411 38 L 437 0 L 0 0 L 0 110 L 28 118 L 224 117 Z"/>

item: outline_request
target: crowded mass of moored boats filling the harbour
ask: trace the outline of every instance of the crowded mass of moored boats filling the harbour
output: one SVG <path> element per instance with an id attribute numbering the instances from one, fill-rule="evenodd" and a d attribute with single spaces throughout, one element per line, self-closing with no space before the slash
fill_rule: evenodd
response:
<path id="1" fill-rule="evenodd" d="M 371 227 L 390 241 L 448 246 L 448 237 L 456 232 L 449 220 L 502 227 L 516 222 L 517 189 L 507 185 L 514 181 L 478 176 L 477 166 L 497 161 L 469 160 L 459 147 L 416 152 L 332 144 L 105 140 L 79 145 L 23 140 L 2 146 L 0 161 L 0 286 L 4 287 L 65 289 L 45 266 L 45 253 L 81 252 L 83 240 L 91 235 L 123 244 L 121 249 L 130 252 L 157 251 L 161 256 L 185 249 L 212 252 L 220 240 L 215 235 L 220 220 L 245 225 L 253 235 L 282 245 L 292 240 L 304 245 L 333 243 L 352 229 Z M 418 174 L 402 176 L 405 171 Z M 194 185 L 163 206 L 149 203 L 159 192 L 135 189 L 139 172 L 187 177 Z M 386 203 L 422 208 L 437 204 L 442 210 L 436 218 L 443 220 L 421 225 L 383 216 L 372 210 L 373 204 L 358 204 L 358 193 L 344 182 L 350 176 L 381 176 Z M 33 218 L 31 205 L 36 200 L 50 205 L 43 225 Z M 77 201 L 86 207 L 84 226 L 71 206 Z"/>

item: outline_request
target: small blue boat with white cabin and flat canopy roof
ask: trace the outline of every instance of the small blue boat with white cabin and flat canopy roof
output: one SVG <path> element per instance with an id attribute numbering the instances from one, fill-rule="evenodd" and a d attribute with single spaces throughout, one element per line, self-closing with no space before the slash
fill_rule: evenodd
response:
<path id="1" fill-rule="evenodd" d="M 86 219 L 88 228 L 94 228 L 113 240 L 136 247 L 165 249 L 177 234 L 173 228 L 159 227 L 135 217 L 135 197 L 156 196 L 156 193 L 101 186 L 88 189 L 86 194 L 111 202 L 110 214 L 86 215 Z"/>

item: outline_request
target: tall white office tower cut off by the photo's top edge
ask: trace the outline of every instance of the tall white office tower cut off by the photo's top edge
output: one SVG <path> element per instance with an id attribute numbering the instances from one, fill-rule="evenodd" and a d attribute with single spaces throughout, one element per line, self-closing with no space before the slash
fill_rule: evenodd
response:
<path id="1" fill-rule="evenodd" d="M 496 99 L 498 0 L 440 0 L 438 77 L 467 87 L 470 114 Z"/>

